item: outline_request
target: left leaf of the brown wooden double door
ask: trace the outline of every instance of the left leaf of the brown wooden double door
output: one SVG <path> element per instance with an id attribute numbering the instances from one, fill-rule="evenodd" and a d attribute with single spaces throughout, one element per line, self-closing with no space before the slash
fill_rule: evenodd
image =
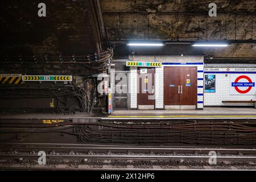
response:
<path id="1" fill-rule="evenodd" d="M 180 109 L 180 67 L 164 67 L 164 109 Z"/>

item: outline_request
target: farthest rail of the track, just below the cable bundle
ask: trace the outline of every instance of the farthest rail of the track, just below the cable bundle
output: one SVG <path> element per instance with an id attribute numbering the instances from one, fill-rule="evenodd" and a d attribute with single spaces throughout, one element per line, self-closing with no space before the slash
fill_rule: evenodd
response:
<path id="1" fill-rule="evenodd" d="M 255 154 L 256 148 L 237 148 L 237 146 L 222 148 L 222 147 L 203 147 L 203 146 L 131 146 L 131 145 L 110 145 L 110 144 L 70 144 L 70 143 L 0 143 L 0 151 L 5 150 L 45 150 L 45 151 L 124 151 L 124 152 L 176 152 L 176 153 L 204 153 L 209 151 L 216 151 L 223 154 Z"/>

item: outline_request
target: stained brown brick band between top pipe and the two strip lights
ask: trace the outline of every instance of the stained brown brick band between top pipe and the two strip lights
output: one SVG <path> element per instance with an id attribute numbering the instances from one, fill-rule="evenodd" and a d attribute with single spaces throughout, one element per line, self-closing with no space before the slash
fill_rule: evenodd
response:
<path id="1" fill-rule="evenodd" d="M 104 13 L 108 40 L 256 40 L 255 19 L 255 13 Z"/>

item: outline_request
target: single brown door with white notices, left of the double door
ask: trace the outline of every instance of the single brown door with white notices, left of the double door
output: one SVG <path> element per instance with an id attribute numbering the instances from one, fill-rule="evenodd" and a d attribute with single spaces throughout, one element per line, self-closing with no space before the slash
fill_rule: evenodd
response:
<path id="1" fill-rule="evenodd" d="M 155 68 L 138 68 L 138 109 L 155 109 Z"/>

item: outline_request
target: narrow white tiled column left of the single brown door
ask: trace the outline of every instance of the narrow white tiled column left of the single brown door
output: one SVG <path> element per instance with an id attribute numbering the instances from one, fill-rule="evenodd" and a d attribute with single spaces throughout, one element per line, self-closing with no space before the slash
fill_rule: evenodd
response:
<path id="1" fill-rule="evenodd" d="M 129 77 L 130 107 L 137 108 L 137 67 L 131 67 Z"/>

